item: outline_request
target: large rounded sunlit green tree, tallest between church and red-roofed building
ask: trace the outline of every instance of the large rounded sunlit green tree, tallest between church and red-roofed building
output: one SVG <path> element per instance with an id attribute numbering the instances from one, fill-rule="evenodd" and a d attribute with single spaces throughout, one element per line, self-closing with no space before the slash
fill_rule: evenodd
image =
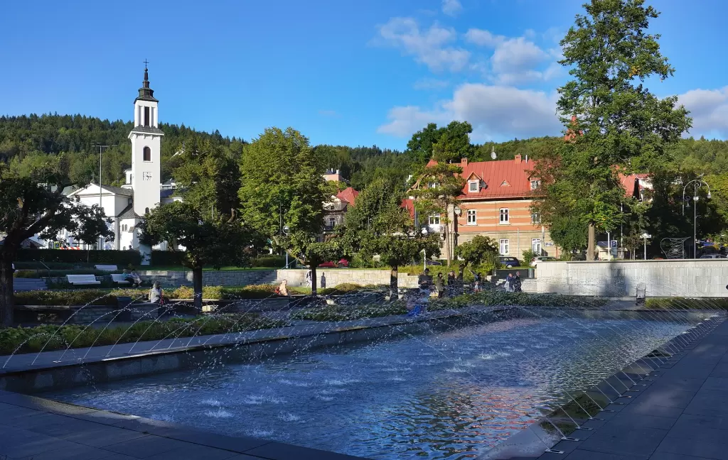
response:
<path id="1" fill-rule="evenodd" d="M 321 232 L 323 203 L 334 192 L 323 179 L 323 156 L 300 132 L 266 129 L 245 148 L 240 172 L 241 217 L 246 225 L 270 238 L 275 247 L 289 250 L 294 246 L 284 227 L 290 234 L 309 239 Z"/>

